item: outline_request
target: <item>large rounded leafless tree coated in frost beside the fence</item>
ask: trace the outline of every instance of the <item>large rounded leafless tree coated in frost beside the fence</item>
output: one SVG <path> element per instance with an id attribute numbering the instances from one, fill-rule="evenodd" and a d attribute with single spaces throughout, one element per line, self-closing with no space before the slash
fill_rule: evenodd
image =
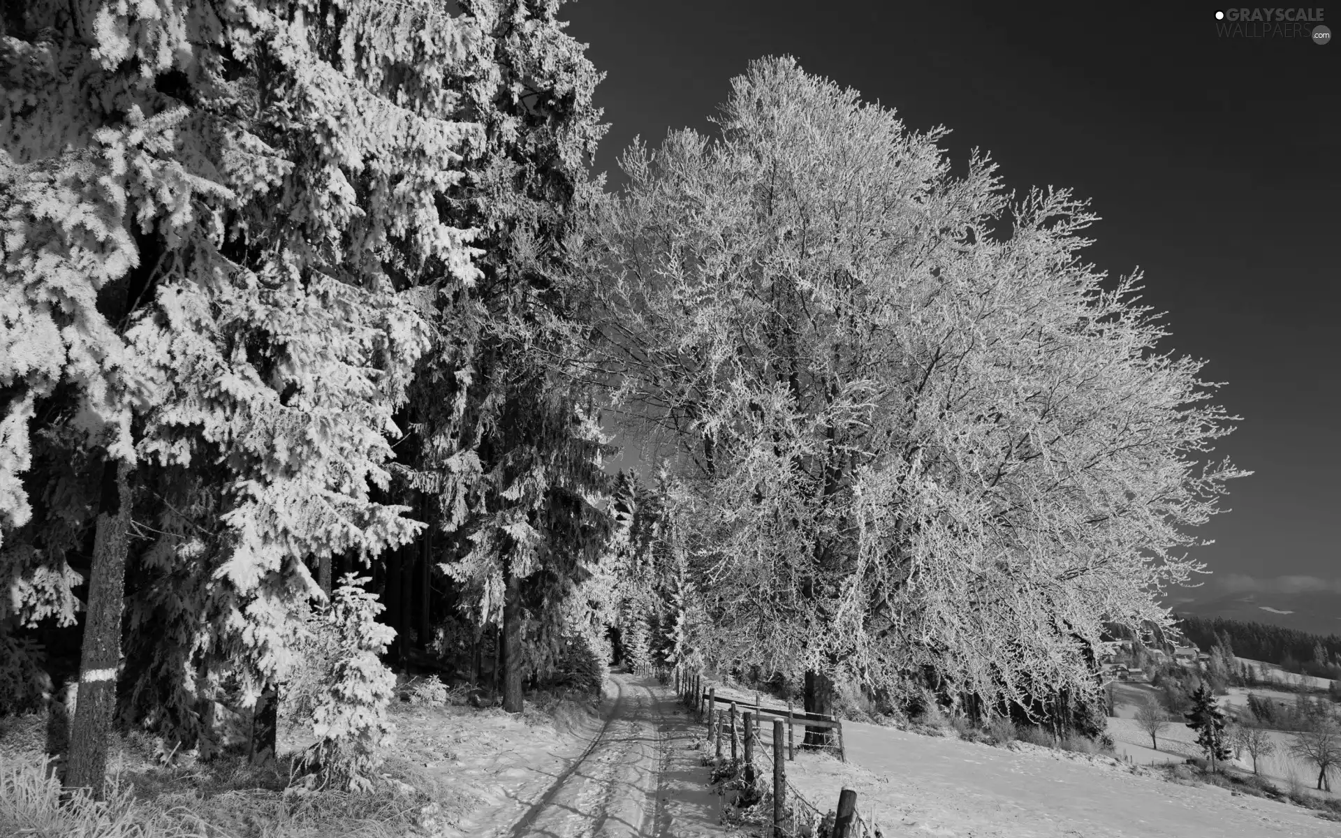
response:
<path id="1" fill-rule="evenodd" d="M 1081 263 L 1065 192 L 955 178 L 941 131 L 790 59 L 719 125 L 634 146 L 602 232 L 618 404 L 679 445 L 715 634 L 803 668 L 810 711 L 834 677 L 1096 699 L 1102 622 L 1169 625 L 1240 473 L 1199 463 L 1228 433 L 1200 363 Z"/>

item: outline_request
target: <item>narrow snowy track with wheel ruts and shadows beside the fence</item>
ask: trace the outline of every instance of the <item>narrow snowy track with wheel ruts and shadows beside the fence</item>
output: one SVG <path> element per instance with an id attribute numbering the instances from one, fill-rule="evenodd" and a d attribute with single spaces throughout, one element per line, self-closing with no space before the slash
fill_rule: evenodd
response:
<path id="1" fill-rule="evenodd" d="M 701 727 L 653 678 L 611 673 L 591 744 L 514 825 L 489 838 L 709 838 L 720 804 L 695 745 Z"/>

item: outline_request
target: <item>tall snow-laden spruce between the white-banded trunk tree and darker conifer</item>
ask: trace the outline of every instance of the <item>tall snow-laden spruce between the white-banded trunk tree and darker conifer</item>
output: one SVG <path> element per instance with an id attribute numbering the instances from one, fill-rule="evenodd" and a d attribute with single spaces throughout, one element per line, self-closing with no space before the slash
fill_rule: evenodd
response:
<path id="1" fill-rule="evenodd" d="M 178 379 L 182 398 L 215 396 L 200 400 L 204 433 L 189 414 L 164 425 L 172 445 L 229 472 L 208 652 L 248 661 L 248 685 L 274 696 L 292 664 L 291 603 L 319 595 L 304 562 L 367 562 L 418 528 L 374 492 L 388 488 L 393 410 L 429 346 L 434 303 L 477 276 L 471 233 L 443 204 L 461 178 L 457 152 L 480 134 L 456 121 L 459 95 L 440 83 L 471 32 L 434 3 L 292 7 L 263 15 L 259 31 L 251 20 L 239 13 L 228 39 L 249 64 L 240 82 L 268 102 L 248 127 L 288 169 L 228 219 L 224 255 L 249 275 L 252 299 L 225 318 L 192 310 L 200 333 L 224 339 L 173 347 L 174 366 L 201 373 Z M 229 346 L 256 350 L 228 370 Z"/>

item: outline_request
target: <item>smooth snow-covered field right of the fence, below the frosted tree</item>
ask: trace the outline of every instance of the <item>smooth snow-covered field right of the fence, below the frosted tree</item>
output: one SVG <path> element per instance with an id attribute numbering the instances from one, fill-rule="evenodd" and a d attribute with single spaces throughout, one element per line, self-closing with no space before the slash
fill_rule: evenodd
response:
<path id="1" fill-rule="evenodd" d="M 1313 813 L 1223 788 L 1165 782 L 1144 768 L 843 723 L 848 759 L 798 754 L 791 782 L 833 809 L 843 786 L 893 838 L 1336 838 Z"/>

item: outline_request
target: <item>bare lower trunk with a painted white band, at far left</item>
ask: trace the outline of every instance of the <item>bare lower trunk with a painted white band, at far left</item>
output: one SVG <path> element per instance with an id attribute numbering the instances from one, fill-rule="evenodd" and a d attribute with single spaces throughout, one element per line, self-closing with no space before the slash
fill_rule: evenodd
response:
<path id="1" fill-rule="evenodd" d="M 93 788 L 103 796 L 107 737 L 117 705 L 121 662 L 121 611 L 126 586 L 130 530 L 130 468 L 109 461 L 102 471 L 102 499 L 94 532 L 93 568 L 79 660 L 79 692 L 70 725 L 67 788 Z"/>

